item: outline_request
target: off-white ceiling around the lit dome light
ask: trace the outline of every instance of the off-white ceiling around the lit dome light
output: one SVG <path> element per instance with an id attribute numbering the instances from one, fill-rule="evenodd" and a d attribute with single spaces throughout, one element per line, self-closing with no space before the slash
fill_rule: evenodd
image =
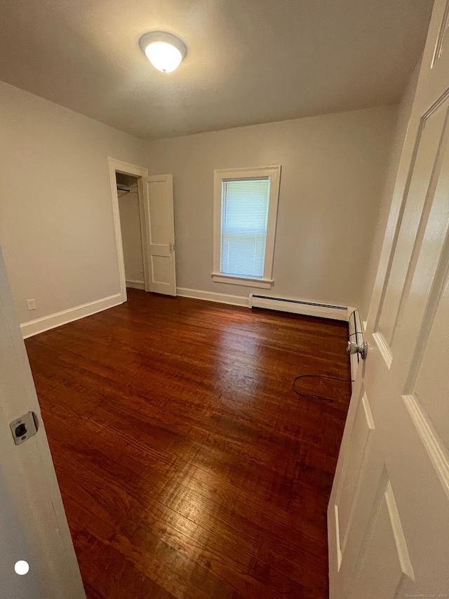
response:
<path id="1" fill-rule="evenodd" d="M 0 79 L 161 138 L 396 103 L 431 0 L 2 0 Z M 187 45 L 173 73 L 148 31 Z"/>

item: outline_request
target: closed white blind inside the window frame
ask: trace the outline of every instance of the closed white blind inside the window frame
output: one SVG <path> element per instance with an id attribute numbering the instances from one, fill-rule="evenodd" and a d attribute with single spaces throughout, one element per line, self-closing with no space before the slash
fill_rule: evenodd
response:
<path id="1" fill-rule="evenodd" d="M 262 277 L 270 177 L 222 181 L 221 272 Z"/>

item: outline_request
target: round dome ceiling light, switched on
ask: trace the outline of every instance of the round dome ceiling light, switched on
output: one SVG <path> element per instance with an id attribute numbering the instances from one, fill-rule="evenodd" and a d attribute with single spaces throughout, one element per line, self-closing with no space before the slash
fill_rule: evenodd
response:
<path id="1" fill-rule="evenodd" d="M 163 31 L 142 35 L 139 46 L 154 68 L 163 73 L 177 69 L 187 54 L 187 48 L 179 38 Z"/>

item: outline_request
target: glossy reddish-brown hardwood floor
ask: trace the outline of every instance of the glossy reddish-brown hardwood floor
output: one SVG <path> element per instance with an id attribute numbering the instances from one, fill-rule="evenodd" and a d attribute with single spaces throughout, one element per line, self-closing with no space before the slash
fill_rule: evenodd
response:
<path id="1" fill-rule="evenodd" d="M 26 342 L 89 599 L 328 596 L 347 325 L 128 290 Z"/>

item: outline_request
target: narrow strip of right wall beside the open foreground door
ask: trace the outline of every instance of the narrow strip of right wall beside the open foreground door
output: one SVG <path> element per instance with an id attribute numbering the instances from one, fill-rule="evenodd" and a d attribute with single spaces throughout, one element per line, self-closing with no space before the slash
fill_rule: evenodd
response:
<path id="1" fill-rule="evenodd" d="M 420 74 L 421 61 L 415 67 L 410 81 L 401 98 L 401 102 L 397 107 L 396 126 L 394 127 L 393 140 L 391 143 L 391 152 L 387 165 L 384 191 L 377 207 L 377 219 L 375 226 L 375 234 L 373 236 L 373 244 L 371 246 L 370 259 L 366 270 L 366 282 L 363 289 L 363 295 L 360 303 L 360 313 L 363 320 L 368 316 L 368 308 L 373 294 L 377 265 L 379 263 L 380 251 L 382 242 L 384 241 L 385 230 L 387 228 L 387 220 L 391 201 L 393 199 L 394 184 L 396 183 L 396 175 L 398 173 L 399 160 L 401 159 L 402 148 L 406 138 L 408 120 L 412 112 L 413 98 Z"/>

